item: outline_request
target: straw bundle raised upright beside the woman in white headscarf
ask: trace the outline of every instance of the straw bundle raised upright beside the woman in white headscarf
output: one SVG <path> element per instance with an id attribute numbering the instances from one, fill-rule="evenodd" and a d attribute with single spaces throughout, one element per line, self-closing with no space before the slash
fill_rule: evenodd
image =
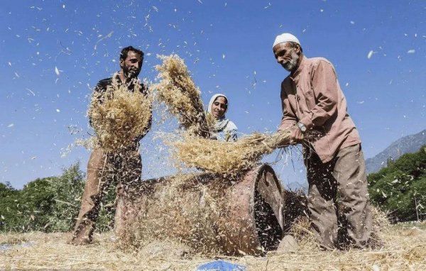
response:
<path id="1" fill-rule="evenodd" d="M 168 111 L 178 118 L 180 126 L 195 136 L 209 137 L 209 128 L 198 89 L 185 62 L 178 55 L 158 55 L 163 60 L 157 65 L 160 82 L 153 85 L 158 100 L 168 106 Z"/>

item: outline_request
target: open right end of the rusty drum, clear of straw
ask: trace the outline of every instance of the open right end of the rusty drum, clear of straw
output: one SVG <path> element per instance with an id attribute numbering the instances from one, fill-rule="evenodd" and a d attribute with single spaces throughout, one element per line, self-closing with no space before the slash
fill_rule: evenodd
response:
<path id="1" fill-rule="evenodd" d="M 274 250 L 283 237 L 283 188 L 272 167 L 253 168 L 226 192 L 227 253 L 261 255 Z"/>

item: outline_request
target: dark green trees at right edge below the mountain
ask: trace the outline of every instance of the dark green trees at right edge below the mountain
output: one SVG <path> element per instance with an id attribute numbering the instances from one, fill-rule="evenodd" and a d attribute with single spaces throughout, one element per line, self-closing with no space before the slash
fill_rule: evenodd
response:
<path id="1" fill-rule="evenodd" d="M 388 163 L 388 167 L 368 175 L 371 201 L 387 211 L 394 221 L 425 218 L 426 148 L 408 153 Z"/>

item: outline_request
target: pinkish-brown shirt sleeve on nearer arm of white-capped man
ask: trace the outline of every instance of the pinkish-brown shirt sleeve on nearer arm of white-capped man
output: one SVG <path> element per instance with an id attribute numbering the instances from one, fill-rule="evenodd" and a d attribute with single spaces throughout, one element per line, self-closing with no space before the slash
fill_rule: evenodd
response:
<path id="1" fill-rule="evenodd" d="M 322 126 L 337 111 L 337 76 L 331 63 L 320 61 L 311 72 L 315 106 L 300 120 L 308 129 Z"/>

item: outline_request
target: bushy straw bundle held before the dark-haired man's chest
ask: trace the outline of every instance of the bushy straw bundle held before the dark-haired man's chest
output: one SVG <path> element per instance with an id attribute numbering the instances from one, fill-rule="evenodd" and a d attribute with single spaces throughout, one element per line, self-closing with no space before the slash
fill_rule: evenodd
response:
<path id="1" fill-rule="evenodd" d="M 139 84 L 130 92 L 114 80 L 105 92 L 94 92 L 88 115 L 100 147 L 128 148 L 146 132 L 151 121 L 152 95 L 143 94 Z"/>

